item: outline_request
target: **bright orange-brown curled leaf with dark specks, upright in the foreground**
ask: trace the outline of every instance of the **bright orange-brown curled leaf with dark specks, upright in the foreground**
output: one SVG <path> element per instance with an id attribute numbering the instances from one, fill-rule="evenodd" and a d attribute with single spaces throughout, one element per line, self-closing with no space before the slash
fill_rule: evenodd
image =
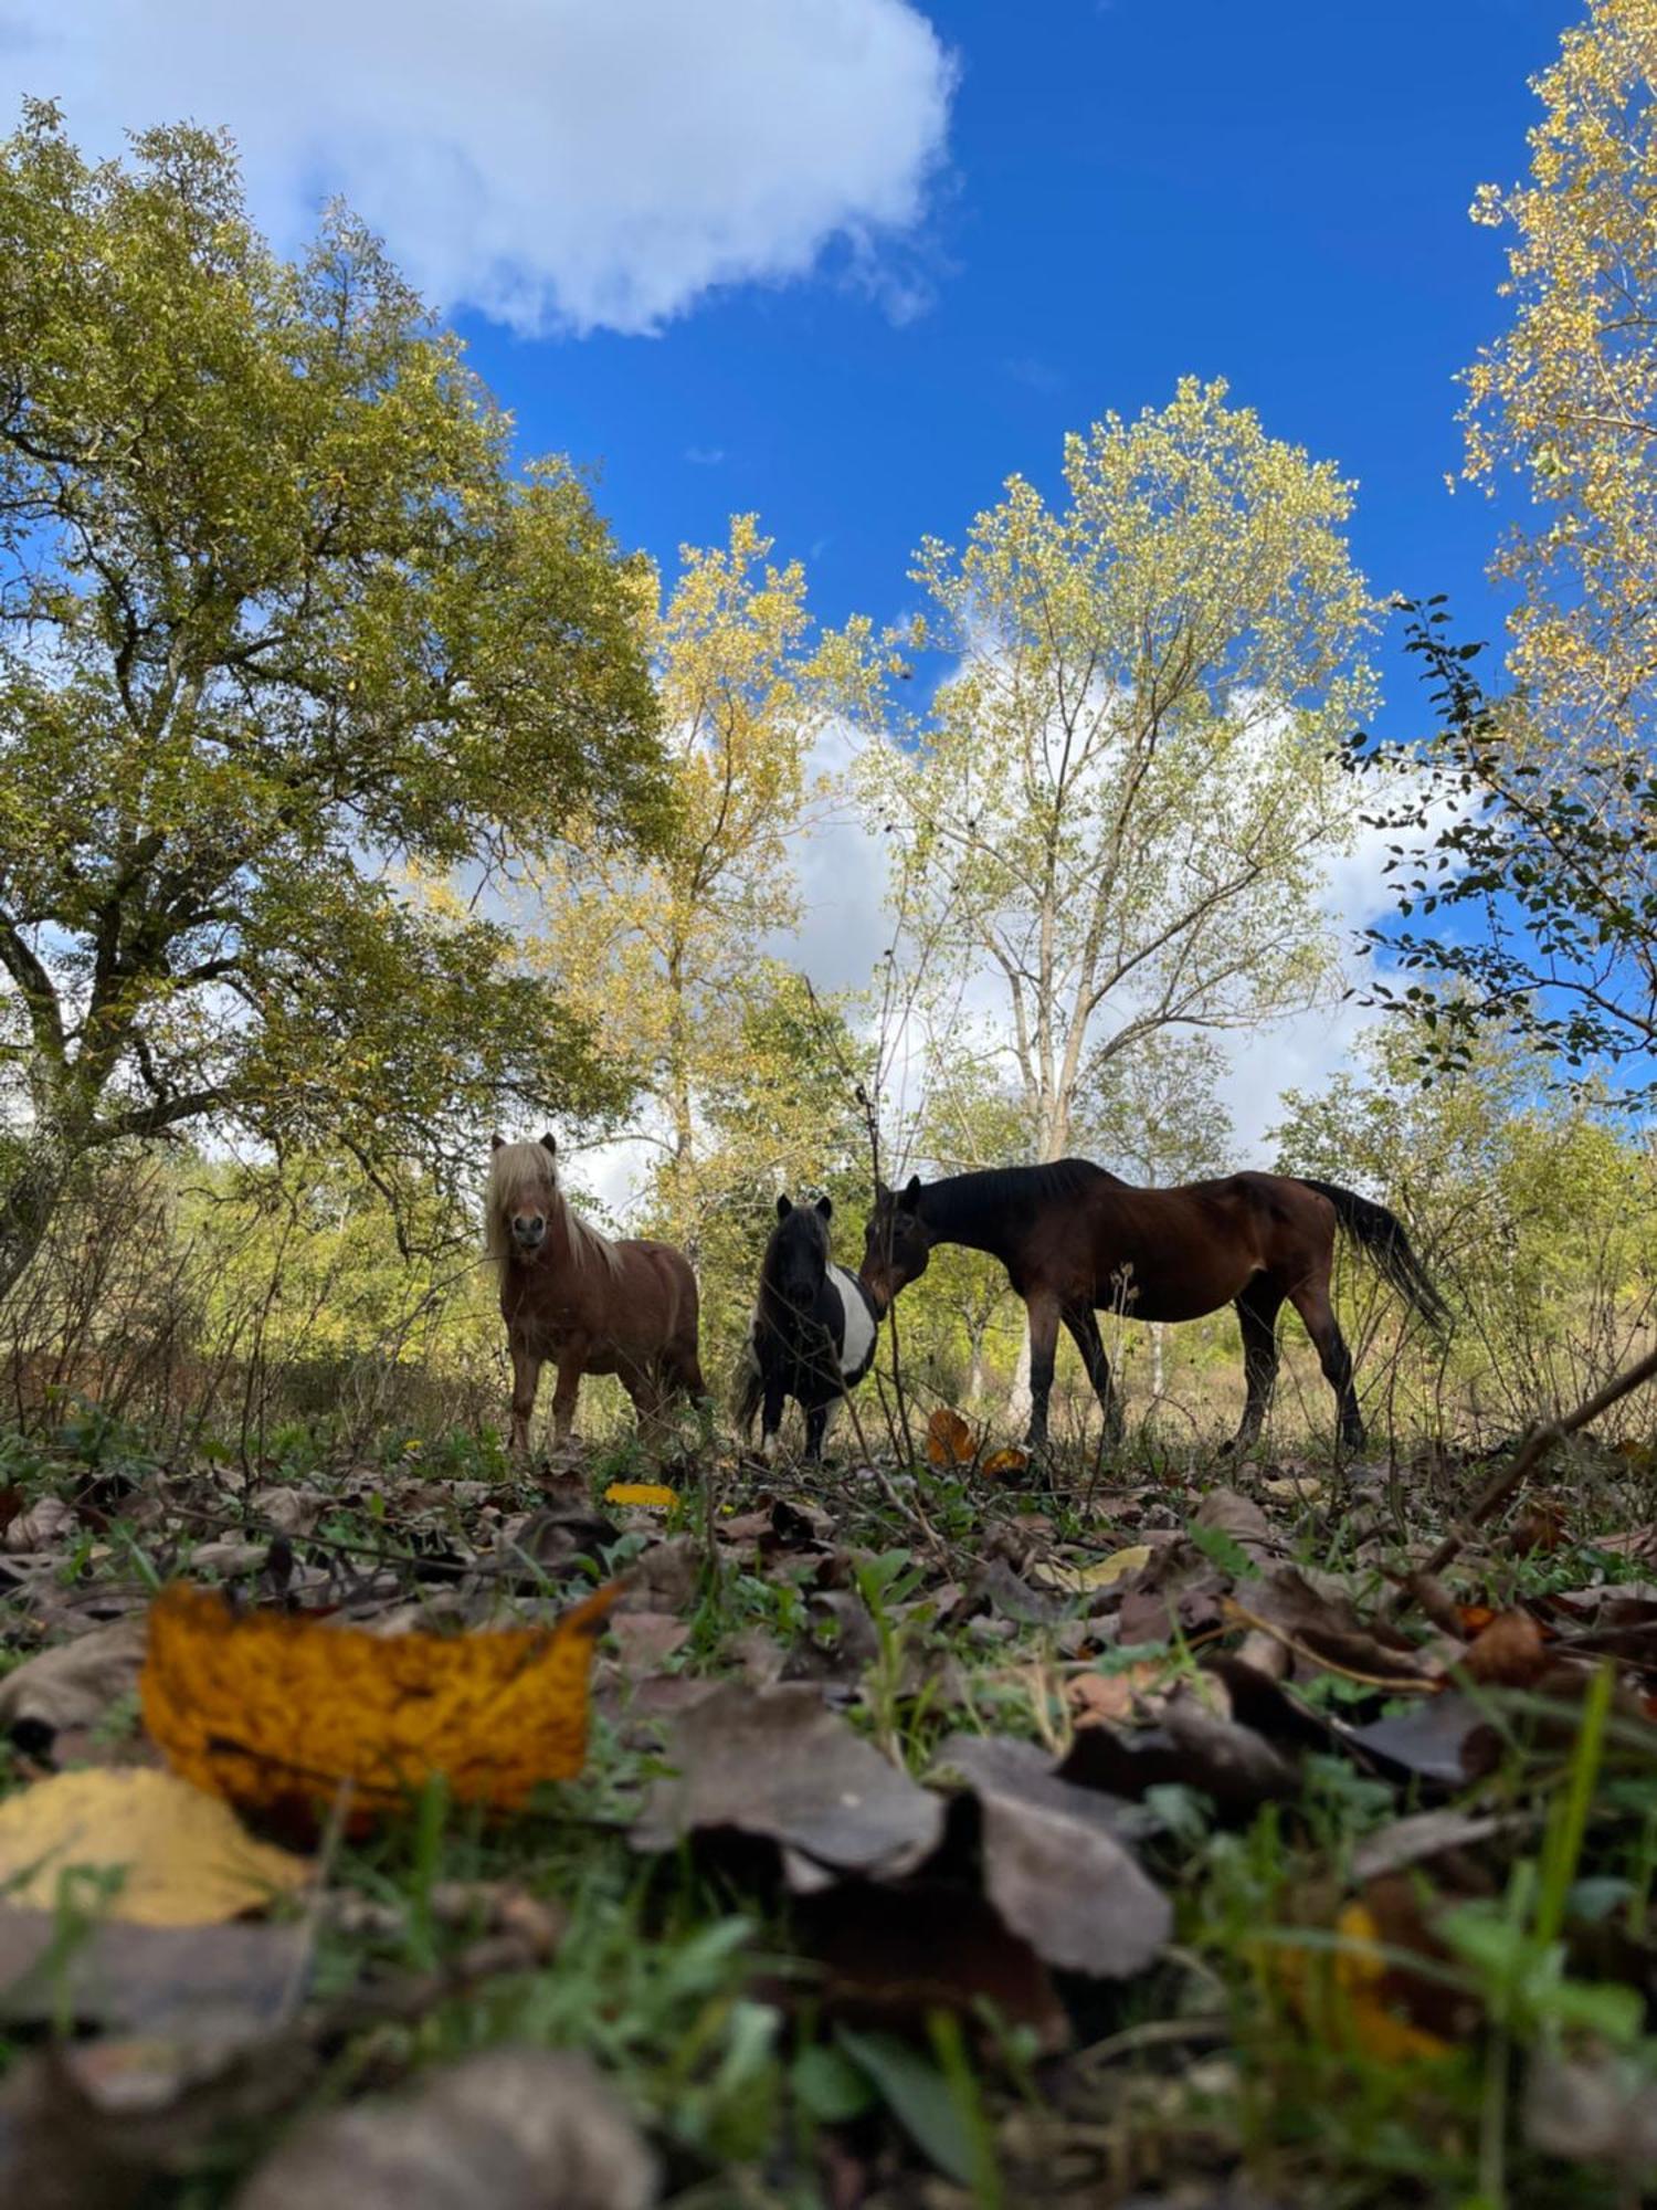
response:
<path id="1" fill-rule="evenodd" d="M 144 1724 L 177 1772 L 267 1810 L 353 1817 L 442 1772 L 462 1803 L 519 1810 L 572 1779 L 588 1748 L 592 1642 L 616 1600 L 597 1589 L 550 1631 L 371 1635 L 166 1589 L 150 1611 Z"/>

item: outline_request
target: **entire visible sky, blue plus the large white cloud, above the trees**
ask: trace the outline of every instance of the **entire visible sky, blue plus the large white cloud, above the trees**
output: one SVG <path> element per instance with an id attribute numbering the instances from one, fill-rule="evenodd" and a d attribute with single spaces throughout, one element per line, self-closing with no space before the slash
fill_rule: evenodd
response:
<path id="1" fill-rule="evenodd" d="M 1527 168 L 1527 80 L 1582 0 L 0 0 L 0 95 L 60 97 L 88 150 L 228 126 L 298 248 L 340 190 L 517 413 L 603 471 L 672 568 L 758 511 L 824 621 L 908 603 L 959 539 L 1107 411 L 1224 376 L 1359 482 L 1379 590 L 1449 592 L 1500 639 L 1496 513 L 1452 497 L 1456 371 L 1502 327 L 1502 243 L 1467 219 Z M 1396 636 L 1381 727 L 1425 727 Z M 802 853 L 793 955 L 862 983 L 879 853 Z M 1392 908 L 1383 838 L 1330 873 Z M 1286 1085 L 1345 1063 L 1354 1003 L 1242 1039 L 1239 1162 Z M 616 1180 L 612 1196 L 623 1196 Z"/>

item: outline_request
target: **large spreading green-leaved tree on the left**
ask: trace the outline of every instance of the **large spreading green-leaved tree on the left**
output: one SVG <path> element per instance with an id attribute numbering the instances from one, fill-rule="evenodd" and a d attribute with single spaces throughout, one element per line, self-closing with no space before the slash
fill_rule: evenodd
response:
<path id="1" fill-rule="evenodd" d="M 638 579 L 347 214 L 199 130 L 0 148 L 0 1291 L 77 1158 L 223 1123 L 382 1187 L 614 1094 L 400 871 L 661 835 Z"/>

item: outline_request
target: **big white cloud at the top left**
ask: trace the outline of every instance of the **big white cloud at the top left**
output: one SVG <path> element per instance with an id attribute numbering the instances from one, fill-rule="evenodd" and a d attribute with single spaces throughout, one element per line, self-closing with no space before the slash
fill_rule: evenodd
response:
<path id="1" fill-rule="evenodd" d="M 954 64 L 912 0 L 9 0 L 0 86 L 110 152 L 228 126 L 296 245 L 338 190 L 442 307 L 650 332 L 835 241 L 893 312 Z"/>

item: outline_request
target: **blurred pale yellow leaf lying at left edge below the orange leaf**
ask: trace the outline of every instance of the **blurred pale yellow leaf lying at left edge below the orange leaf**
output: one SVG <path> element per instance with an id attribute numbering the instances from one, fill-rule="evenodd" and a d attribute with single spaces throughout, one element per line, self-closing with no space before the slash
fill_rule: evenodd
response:
<path id="1" fill-rule="evenodd" d="M 0 1803 L 7 1903 L 55 1909 L 68 1872 L 122 1876 L 102 1905 L 91 1883 L 80 1890 L 88 1909 L 146 1927 L 199 1927 L 303 1887 L 312 1867 L 243 1834 L 228 1803 L 175 1772 L 99 1766 L 55 1772 Z"/>

